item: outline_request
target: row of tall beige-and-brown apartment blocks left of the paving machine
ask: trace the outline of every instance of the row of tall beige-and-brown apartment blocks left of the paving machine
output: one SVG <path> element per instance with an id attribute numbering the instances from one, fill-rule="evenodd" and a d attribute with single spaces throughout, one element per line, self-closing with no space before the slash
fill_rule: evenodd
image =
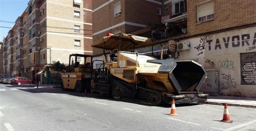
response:
<path id="1" fill-rule="evenodd" d="M 60 61 L 68 65 L 69 54 L 92 54 L 91 0 L 29 0 L 5 39 L 12 52 L 4 53 L 13 57 L 13 62 L 6 58 L 6 66 L 13 65 L 5 76 L 37 78 L 50 84 L 55 72 L 48 64 Z"/>

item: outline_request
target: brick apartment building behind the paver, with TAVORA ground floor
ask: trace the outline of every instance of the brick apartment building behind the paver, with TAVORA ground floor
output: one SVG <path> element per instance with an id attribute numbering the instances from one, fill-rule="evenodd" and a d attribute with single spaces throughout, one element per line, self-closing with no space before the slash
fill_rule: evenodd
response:
<path id="1" fill-rule="evenodd" d="M 158 57 L 161 44 L 176 60 L 198 62 L 208 73 L 202 91 L 256 96 L 255 1 L 101 0 L 92 5 L 93 41 L 106 32 L 149 37 L 154 44 L 136 50 Z M 176 52 L 168 51 L 170 40 Z M 100 53 L 93 49 L 94 59 L 101 59 Z"/>

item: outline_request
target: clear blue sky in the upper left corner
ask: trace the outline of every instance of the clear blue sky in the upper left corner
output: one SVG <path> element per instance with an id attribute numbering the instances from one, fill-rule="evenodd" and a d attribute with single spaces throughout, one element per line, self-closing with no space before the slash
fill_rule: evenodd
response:
<path id="1" fill-rule="evenodd" d="M 3 37 L 7 36 L 9 30 L 14 26 L 14 22 L 27 8 L 28 2 L 29 0 L 0 0 L 0 42 L 3 41 Z"/>

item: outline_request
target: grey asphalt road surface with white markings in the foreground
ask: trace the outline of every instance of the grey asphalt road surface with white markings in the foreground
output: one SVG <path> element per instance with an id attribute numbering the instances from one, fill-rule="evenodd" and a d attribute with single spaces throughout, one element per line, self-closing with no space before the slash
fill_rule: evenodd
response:
<path id="1" fill-rule="evenodd" d="M 0 131 L 256 131 L 256 109 L 228 106 L 147 106 L 106 95 L 0 84 Z"/>

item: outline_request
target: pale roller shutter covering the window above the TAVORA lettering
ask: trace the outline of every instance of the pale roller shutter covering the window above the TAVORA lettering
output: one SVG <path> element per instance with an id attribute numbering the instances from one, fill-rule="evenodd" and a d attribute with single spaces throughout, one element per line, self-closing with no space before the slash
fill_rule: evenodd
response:
<path id="1" fill-rule="evenodd" d="M 214 4 L 213 1 L 211 1 L 211 2 L 207 2 L 207 3 L 203 3 L 201 5 L 198 5 L 197 6 L 198 18 L 213 14 L 214 13 L 213 4 Z"/>

